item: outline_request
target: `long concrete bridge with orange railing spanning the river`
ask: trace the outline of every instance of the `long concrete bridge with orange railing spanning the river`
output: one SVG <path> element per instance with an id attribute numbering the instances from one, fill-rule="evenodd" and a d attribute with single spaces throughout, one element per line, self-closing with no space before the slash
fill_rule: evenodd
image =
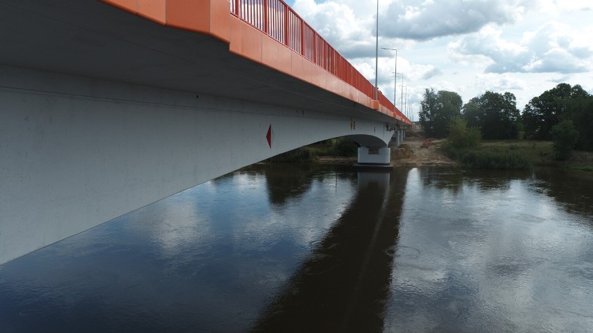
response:
<path id="1" fill-rule="evenodd" d="M 0 0 L 0 264 L 276 154 L 409 120 L 281 0 Z"/>

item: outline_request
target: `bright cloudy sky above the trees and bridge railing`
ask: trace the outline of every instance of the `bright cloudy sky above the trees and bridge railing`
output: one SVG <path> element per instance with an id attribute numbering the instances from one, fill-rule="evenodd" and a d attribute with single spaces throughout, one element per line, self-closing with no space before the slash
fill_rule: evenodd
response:
<path id="1" fill-rule="evenodd" d="M 371 83 L 375 0 L 288 0 Z M 593 93 L 593 2 L 556 0 L 379 0 L 378 86 L 393 101 L 395 51 L 411 119 L 426 88 L 461 95 L 512 92 L 523 111 L 558 83 Z M 402 75 L 397 107 L 402 109 Z M 405 95 L 404 95 L 405 99 Z"/>

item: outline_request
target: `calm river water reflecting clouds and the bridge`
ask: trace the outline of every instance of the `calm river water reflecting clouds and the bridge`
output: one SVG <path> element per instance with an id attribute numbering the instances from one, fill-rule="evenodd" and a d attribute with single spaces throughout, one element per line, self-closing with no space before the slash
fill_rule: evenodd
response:
<path id="1" fill-rule="evenodd" d="M 0 332 L 593 332 L 593 177 L 252 165 L 0 266 Z"/>

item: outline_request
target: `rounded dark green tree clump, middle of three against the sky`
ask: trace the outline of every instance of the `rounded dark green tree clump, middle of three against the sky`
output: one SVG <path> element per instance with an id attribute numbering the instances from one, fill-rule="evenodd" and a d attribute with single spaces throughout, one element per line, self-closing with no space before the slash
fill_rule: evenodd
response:
<path id="1" fill-rule="evenodd" d="M 482 130 L 485 139 L 517 138 L 523 129 L 516 98 L 511 92 L 484 92 L 464 105 L 463 115 L 469 126 Z"/>

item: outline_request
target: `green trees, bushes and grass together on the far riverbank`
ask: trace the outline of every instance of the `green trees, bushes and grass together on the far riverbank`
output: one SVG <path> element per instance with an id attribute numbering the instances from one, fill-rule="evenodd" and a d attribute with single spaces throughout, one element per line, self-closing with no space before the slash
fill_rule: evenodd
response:
<path id="1" fill-rule="evenodd" d="M 593 96 L 579 85 L 560 83 L 533 97 L 522 113 L 511 92 L 486 91 L 462 104 L 457 92 L 426 89 L 420 104 L 425 136 L 448 138 L 445 152 L 468 167 L 507 169 L 544 164 L 593 168 L 587 157 L 577 159 L 580 165 L 569 163 L 574 149 L 580 156 L 593 150 Z M 480 144 L 481 138 L 505 141 Z"/>

